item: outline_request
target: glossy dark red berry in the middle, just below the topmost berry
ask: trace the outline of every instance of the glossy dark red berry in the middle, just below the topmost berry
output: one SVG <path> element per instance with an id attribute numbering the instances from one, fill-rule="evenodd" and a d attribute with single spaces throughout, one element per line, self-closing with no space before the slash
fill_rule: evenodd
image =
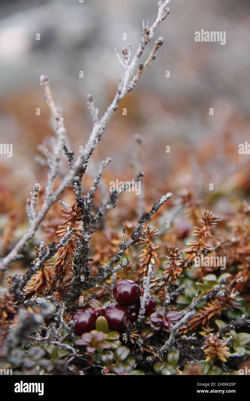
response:
<path id="1" fill-rule="evenodd" d="M 131 317 L 126 308 L 121 305 L 110 305 L 102 311 L 103 316 L 107 319 L 110 330 L 122 332 L 131 326 Z"/>

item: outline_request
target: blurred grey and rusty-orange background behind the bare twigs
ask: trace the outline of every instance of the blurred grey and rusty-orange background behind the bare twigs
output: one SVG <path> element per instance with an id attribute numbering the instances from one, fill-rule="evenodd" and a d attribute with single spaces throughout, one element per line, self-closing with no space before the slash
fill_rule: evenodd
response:
<path id="1" fill-rule="evenodd" d="M 110 181 L 131 180 L 138 168 L 144 171 L 142 194 L 124 194 L 120 208 L 111 211 L 113 227 L 134 219 L 167 192 L 174 195 L 167 209 L 176 207 L 186 191 L 199 199 L 201 208 L 211 207 L 222 218 L 249 198 L 250 156 L 239 155 L 238 145 L 249 138 L 250 2 L 173 0 L 169 7 L 169 16 L 154 36 L 154 40 L 164 38 L 157 58 L 121 102 L 83 179 L 86 191 L 100 162 L 112 158 L 96 199 L 98 206 L 108 196 Z M 87 94 L 93 95 L 102 116 L 122 73 L 114 47 L 121 54 L 132 43 L 132 53 L 136 51 L 142 21 L 152 24 L 157 16 L 157 0 L 84 0 L 83 4 L 2 0 L 0 15 L 0 143 L 13 144 L 12 158 L 0 155 L 4 234 L 0 253 L 4 255 L 27 227 L 25 200 L 33 184 L 41 183 L 42 199 L 47 178 L 41 144 L 51 149 L 54 122 L 39 76 L 49 76 L 65 120 L 68 146 L 78 156 L 92 128 Z M 226 31 L 226 44 L 195 42 L 194 32 L 201 29 Z M 151 49 L 152 43 L 143 60 Z M 65 172 L 66 161 L 61 176 Z M 209 190 L 211 183 L 213 190 Z M 70 188 L 62 199 L 73 201 Z M 46 221 L 55 219 L 56 227 L 59 216 L 57 204 Z M 166 219 L 164 215 L 163 227 Z M 37 233 L 35 244 L 43 235 Z"/>

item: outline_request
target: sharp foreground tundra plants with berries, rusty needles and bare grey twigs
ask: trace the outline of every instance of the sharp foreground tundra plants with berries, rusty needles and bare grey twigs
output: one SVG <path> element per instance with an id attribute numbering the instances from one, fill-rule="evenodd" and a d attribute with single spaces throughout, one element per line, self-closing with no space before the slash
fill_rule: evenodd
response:
<path id="1" fill-rule="evenodd" d="M 109 191 L 105 169 L 110 158 L 101 163 L 89 190 L 82 188 L 106 125 L 163 45 L 162 37 L 153 36 L 169 14 L 167 4 L 159 0 L 157 18 L 152 25 L 143 24 L 134 56 L 131 45 L 122 49 L 122 56 L 117 52 L 122 75 L 101 118 L 93 96 L 87 96 L 93 129 L 78 157 L 67 146 L 49 79 L 40 77 L 55 120 L 54 148 L 44 149 L 46 187 L 36 183 L 30 188 L 28 228 L 12 249 L 15 215 L 2 234 L 1 279 L 12 264 L 21 263 L 25 270 L 9 275 L 1 294 L 1 369 L 26 375 L 238 375 L 248 369 L 248 203 L 242 202 L 234 216 L 220 218 L 203 211 L 186 190 L 176 195 L 177 203 L 175 194 L 165 191 L 148 207 L 143 202 L 144 192 L 150 192 L 146 188 L 136 196 L 139 207 L 125 205 L 124 219 L 118 201 L 144 174 L 138 171 L 134 179 L 128 177 Z M 68 172 L 61 176 L 63 158 Z M 66 193 L 71 204 L 63 198 Z M 110 221 L 114 208 L 118 213 Z M 163 227 L 166 211 L 171 225 Z M 52 241 L 35 246 L 34 260 L 25 265 L 37 230 Z"/>

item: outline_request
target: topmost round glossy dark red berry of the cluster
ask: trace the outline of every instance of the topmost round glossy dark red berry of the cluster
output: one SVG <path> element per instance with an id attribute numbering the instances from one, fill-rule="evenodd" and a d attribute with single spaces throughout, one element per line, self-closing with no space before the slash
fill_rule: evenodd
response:
<path id="1" fill-rule="evenodd" d="M 113 296 L 118 304 L 130 306 L 140 298 L 140 287 L 132 280 L 121 280 L 114 286 Z"/>

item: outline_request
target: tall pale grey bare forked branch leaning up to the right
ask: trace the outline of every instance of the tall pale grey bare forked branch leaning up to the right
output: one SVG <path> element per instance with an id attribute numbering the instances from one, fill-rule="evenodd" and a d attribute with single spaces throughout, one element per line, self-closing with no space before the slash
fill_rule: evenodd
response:
<path id="1" fill-rule="evenodd" d="M 6 270 L 8 269 L 9 265 L 14 262 L 15 260 L 19 259 L 21 257 L 20 253 L 23 251 L 23 249 L 26 247 L 28 241 L 32 239 L 39 227 L 39 224 L 43 219 L 45 218 L 45 215 L 47 214 L 47 211 L 50 209 L 50 207 L 53 205 L 53 203 L 57 200 L 57 198 L 62 194 L 62 192 L 70 185 L 73 185 L 74 182 L 80 182 L 82 178 L 82 174 L 85 171 L 83 169 L 84 164 L 87 163 L 89 160 L 89 156 L 92 154 L 93 150 L 96 148 L 99 140 L 102 137 L 102 134 L 106 128 L 107 123 L 109 122 L 110 118 L 112 115 L 115 113 L 116 109 L 119 106 L 120 101 L 126 96 L 126 94 L 134 88 L 136 85 L 136 82 L 138 79 L 134 81 L 134 78 L 132 78 L 132 74 L 134 71 L 134 68 L 136 67 L 136 64 L 138 63 L 147 43 L 152 39 L 154 30 L 157 28 L 158 24 L 163 21 L 166 17 L 167 14 L 169 14 L 169 9 L 167 8 L 168 0 L 167 1 L 159 1 L 158 2 L 158 15 L 152 26 L 150 27 L 145 27 L 143 30 L 142 34 L 142 39 L 140 46 L 138 47 L 138 50 L 136 51 L 136 54 L 132 59 L 130 59 L 130 51 L 126 54 L 125 60 L 124 60 L 124 71 L 122 74 L 122 77 L 120 78 L 119 84 L 118 84 L 118 90 L 116 92 L 116 95 L 108 107 L 107 111 L 104 113 L 103 117 L 98 120 L 97 117 L 97 111 L 93 105 L 93 98 L 88 96 L 88 102 L 89 102 L 89 109 L 93 118 L 93 129 L 91 132 L 91 135 L 89 137 L 89 140 L 87 141 L 87 144 L 85 145 L 84 151 L 81 155 L 78 156 L 77 160 L 73 162 L 72 160 L 72 152 L 70 154 L 67 151 L 66 145 L 65 145 L 65 137 L 66 137 L 66 132 L 65 128 L 63 126 L 63 119 L 61 117 L 61 113 L 55 106 L 55 103 L 52 99 L 51 96 L 51 91 L 49 87 L 49 81 L 46 76 L 41 76 L 41 85 L 45 87 L 45 95 L 46 95 L 46 101 L 51 109 L 51 112 L 53 116 L 55 117 L 56 121 L 56 129 L 57 129 L 57 142 L 55 145 L 54 149 L 54 154 L 53 154 L 53 160 L 51 162 L 50 166 L 50 171 L 48 174 L 48 183 L 46 186 L 45 190 L 45 200 L 43 202 L 43 205 L 35 219 L 33 219 L 32 223 L 30 224 L 30 227 L 26 230 L 24 233 L 23 237 L 18 241 L 18 243 L 15 245 L 15 247 L 10 251 L 10 253 L 2 259 L 0 262 L 0 269 L 1 270 Z M 162 42 L 162 39 L 160 40 Z M 159 40 L 157 41 L 159 42 Z M 154 45 L 154 52 L 156 51 Z M 131 50 L 131 47 L 130 47 Z M 151 57 L 151 58 L 150 58 Z M 148 57 L 147 61 L 144 63 L 145 68 L 151 63 L 152 61 L 152 52 L 150 53 L 150 56 Z M 145 69 L 144 68 L 144 69 Z M 143 69 L 143 71 L 144 71 Z M 141 76 L 141 73 L 140 73 Z M 140 76 L 138 78 L 140 78 Z M 53 184 L 55 182 L 55 177 L 58 174 L 59 170 L 59 164 L 61 160 L 61 152 L 62 150 L 65 150 L 66 156 L 68 158 L 69 165 L 71 167 L 71 170 L 69 174 L 63 179 L 59 187 L 53 192 Z"/>

